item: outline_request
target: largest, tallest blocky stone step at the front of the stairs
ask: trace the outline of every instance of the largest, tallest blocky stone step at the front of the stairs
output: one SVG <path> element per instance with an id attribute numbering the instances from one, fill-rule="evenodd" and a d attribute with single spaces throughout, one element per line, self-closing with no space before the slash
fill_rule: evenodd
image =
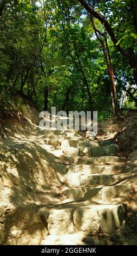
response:
<path id="1" fill-rule="evenodd" d="M 113 234 L 125 223 L 126 205 L 64 204 L 40 209 L 48 235 L 66 235 L 81 231 L 84 235 Z"/>

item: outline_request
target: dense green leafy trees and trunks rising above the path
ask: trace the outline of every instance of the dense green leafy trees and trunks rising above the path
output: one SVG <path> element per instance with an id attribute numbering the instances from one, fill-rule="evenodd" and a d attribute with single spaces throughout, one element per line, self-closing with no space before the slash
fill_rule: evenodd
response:
<path id="1" fill-rule="evenodd" d="M 0 105 L 16 93 L 39 109 L 136 108 L 136 0 L 0 0 Z"/>

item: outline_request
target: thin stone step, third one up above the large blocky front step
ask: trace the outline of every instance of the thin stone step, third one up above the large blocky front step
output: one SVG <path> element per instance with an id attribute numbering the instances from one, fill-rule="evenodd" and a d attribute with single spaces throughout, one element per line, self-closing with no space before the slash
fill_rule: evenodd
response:
<path id="1" fill-rule="evenodd" d="M 78 164 L 76 166 L 67 166 L 68 173 L 79 174 L 119 174 L 125 172 L 126 165 L 95 165 L 95 164 Z"/>

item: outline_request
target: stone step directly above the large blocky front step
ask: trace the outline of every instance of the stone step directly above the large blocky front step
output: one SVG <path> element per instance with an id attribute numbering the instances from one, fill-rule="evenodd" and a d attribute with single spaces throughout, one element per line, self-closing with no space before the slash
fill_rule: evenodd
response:
<path id="1" fill-rule="evenodd" d="M 121 185 L 105 187 L 81 186 L 78 188 L 68 188 L 66 191 L 64 191 L 64 194 L 66 194 L 70 201 L 74 202 L 84 202 L 90 200 L 100 204 L 107 204 L 119 196 L 121 188 Z"/>

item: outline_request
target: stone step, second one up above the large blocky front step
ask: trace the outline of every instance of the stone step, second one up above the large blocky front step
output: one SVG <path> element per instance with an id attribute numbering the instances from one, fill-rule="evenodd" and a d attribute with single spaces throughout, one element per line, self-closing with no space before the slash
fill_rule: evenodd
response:
<path id="1" fill-rule="evenodd" d="M 86 172 L 85 172 L 86 173 Z M 80 186 L 108 186 L 120 181 L 119 175 L 113 174 L 81 174 L 68 173 L 67 182 L 69 187 Z"/>

